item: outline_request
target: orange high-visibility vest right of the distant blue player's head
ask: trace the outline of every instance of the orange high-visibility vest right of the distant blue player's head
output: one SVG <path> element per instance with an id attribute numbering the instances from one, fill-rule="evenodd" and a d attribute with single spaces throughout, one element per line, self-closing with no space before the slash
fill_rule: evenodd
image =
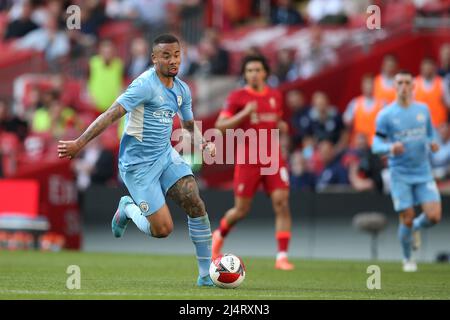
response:
<path id="1" fill-rule="evenodd" d="M 417 76 L 415 79 L 414 98 L 428 105 L 433 126 L 438 127 L 447 122 L 448 113 L 443 102 L 444 92 L 441 77 L 434 77 L 431 88 L 427 88 L 425 79 L 422 76 Z"/>

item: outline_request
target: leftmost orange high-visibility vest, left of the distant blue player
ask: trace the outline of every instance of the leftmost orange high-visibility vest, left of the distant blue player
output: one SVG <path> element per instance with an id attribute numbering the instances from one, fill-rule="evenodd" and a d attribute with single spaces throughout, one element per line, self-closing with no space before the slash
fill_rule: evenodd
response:
<path id="1" fill-rule="evenodd" d="M 355 109 L 353 113 L 353 130 L 352 130 L 352 144 L 355 144 L 355 138 L 358 134 L 366 135 L 368 142 L 372 145 L 373 137 L 376 130 L 376 117 L 378 112 L 383 108 L 383 101 L 374 99 L 372 108 L 367 108 L 364 104 L 364 96 L 356 98 Z"/>

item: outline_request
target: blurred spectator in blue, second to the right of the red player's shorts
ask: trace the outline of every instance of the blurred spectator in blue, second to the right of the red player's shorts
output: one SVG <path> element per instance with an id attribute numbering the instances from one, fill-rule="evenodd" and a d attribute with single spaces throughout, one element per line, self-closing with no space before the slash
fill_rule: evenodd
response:
<path id="1" fill-rule="evenodd" d="M 317 146 L 317 156 L 323 170 L 317 176 L 316 191 L 326 191 L 332 186 L 348 185 L 348 170 L 342 164 L 343 153 L 337 151 L 333 141 L 322 140 Z"/>

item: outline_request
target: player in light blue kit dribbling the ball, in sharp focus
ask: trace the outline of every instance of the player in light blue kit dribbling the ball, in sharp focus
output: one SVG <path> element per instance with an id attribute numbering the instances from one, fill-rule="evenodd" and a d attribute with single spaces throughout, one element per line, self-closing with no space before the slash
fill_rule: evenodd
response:
<path id="1" fill-rule="evenodd" d="M 205 205 L 190 166 L 172 148 L 170 138 L 176 114 L 193 138 L 194 145 L 215 155 L 194 124 L 191 93 L 176 77 L 181 63 L 180 43 L 172 35 L 161 35 L 153 43 L 154 67 L 137 77 L 115 103 L 101 114 L 76 140 L 60 141 L 60 158 L 72 159 L 93 138 L 126 114 L 120 141 L 119 172 L 131 194 L 120 199 L 112 220 L 112 232 L 122 237 L 132 220 L 145 234 L 167 237 L 173 222 L 165 196 L 188 215 L 189 235 L 195 245 L 198 286 L 212 286 L 211 228 Z"/>

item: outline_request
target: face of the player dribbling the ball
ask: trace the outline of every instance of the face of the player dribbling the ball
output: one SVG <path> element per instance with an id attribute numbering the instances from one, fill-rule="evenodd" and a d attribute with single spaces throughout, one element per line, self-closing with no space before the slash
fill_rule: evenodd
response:
<path id="1" fill-rule="evenodd" d="M 165 77 L 175 77 L 181 63 L 180 44 L 160 43 L 153 48 L 152 61 L 155 68 Z"/>

